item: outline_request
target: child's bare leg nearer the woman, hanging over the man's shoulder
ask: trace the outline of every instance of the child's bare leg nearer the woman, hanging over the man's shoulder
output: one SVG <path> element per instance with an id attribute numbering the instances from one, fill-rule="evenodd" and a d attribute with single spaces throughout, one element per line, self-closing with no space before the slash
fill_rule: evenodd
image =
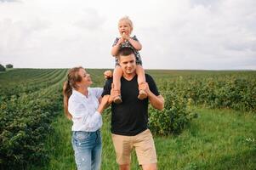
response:
<path id="1" fill-rule="evenodd" d="M 121 99 L 121 77 L 122 77 L 122 68 L 117 65 L 113 72 L 113 84 L 114 84 L 114 90 L 117 90 L 119 93 L 119 96 L 117 96 L 113 101 L 117 104 L 122 103 Z"/>

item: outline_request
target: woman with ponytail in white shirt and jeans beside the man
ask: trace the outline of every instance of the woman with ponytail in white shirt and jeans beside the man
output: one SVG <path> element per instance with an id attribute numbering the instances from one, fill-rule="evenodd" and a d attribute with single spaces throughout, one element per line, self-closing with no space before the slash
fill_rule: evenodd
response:
<path id="1" fill-rule="evenodd" d="M 72 146 L 78 170 L 100 169 L 102 111 L 109 96 L 102 88 L 89 88 L 90 75 L 82 68 L 68 71 L 63 87 L 65 115 L 72 120 Z"/>

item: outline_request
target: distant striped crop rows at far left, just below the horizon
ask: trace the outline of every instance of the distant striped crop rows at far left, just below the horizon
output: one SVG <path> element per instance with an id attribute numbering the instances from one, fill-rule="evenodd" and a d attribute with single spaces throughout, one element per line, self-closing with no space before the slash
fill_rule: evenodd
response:
<path id="1" fill-rule="evenodd" d="M 13 95 L 31 94 L 41 88 L 60 81 L 65 71 L 57 69 L 17 69 L 1 75 L 0 101 L 10 99 Z"/>

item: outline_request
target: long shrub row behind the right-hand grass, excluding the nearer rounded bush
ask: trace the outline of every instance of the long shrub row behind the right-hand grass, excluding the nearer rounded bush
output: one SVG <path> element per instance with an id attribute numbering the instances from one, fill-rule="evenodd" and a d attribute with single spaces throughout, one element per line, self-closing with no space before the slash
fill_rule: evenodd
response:
<path id="1" fill-rule="evenodd" d="M 175 92 L 194 105 L 256 111 L 256 75 L 252 77 L 176 77 L 162 80 L 161 91 Z"/>

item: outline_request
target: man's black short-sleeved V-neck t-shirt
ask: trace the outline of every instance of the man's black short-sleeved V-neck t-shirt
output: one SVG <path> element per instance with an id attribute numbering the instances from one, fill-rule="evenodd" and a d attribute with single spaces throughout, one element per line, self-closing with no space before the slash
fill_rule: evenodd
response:
<path id="1" fill-rule="evenodd" d="M 150 75 L 145 74 L 145 80 L 153 94 L 159 95 L 156 83 Z M 105 82 L 105 94 L 111 94 L 112 79 Z M 147 129 L 148 99 L 138 99 L 139 89 L 137 75 L 130 81 L 121 78 L 122 103 L 111 105 L 111 133 L 134 136 Z"/>

